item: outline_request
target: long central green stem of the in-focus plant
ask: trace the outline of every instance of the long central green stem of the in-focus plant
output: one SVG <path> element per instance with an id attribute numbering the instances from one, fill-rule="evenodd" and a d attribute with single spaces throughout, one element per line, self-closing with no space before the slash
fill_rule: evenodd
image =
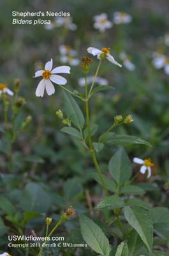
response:
<path id="1" fill-rule="evenodd" d="M 94 148 L 92 147 L 92 139 L 91 139 L 91 131 L 90 131 L 90 118 L 89 118 L 89 98 L 87 96 L 87 74 L 85 74 L 85 115 L 86 115 L 86 122 L 87 122 L 87 134 L 88 134 L 88 140 L 89 140 L 89 149 L 91 152 L 92 160 L 93 160 L 94 166 L 96 167 L 96 171 L 98 172 L 99 179 L 101 180 L 103 189 L 105 190 L 106 195 L 108 195 L 107 186 L 105 185 L 105 182 L 103 180 L 101 170 L 99 168 L 98 161 L 96 159 L 96 155 L 94 152 Z"/>

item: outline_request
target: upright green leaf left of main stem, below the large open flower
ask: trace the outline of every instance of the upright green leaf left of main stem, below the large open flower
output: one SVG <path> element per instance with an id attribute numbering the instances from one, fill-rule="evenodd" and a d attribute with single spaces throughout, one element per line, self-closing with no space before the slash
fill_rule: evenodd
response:
<path id="1" fill-rule="evenodd" d="M 64 94 L 64 107 L 66 111 L 66 115 L 71 118 L 71 122 L 79 129 L 82 130 L 84 127 L 84 115 L 79 108 L 77 102 L 73 97 L 66 92 Z"/>

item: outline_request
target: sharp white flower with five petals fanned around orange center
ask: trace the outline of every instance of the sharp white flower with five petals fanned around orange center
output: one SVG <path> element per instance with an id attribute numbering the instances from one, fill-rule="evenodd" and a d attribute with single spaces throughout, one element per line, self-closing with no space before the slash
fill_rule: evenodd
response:
<path id="1" fill-rule="evenodd" d="M 36 96 L 43 97 L 45 89 L 48 95 L 52 95 L 55 93 L 55 88 L 52 82 L 55 84 L 66 84 L 67 80 L 59 75 L 55 75 L 58 73 L 66 73 L 70 74 L 70 67 L 68 66 L 60 66 L 52 69 L 53 60 L 51 59 L 45 65 L 45 70 L 38 70 L 35 72 L 34 77 L 42 76 L 43 79 L 38 84 L 36 88 Z M 52 82 L 51 82 L 52 81 Z"/>

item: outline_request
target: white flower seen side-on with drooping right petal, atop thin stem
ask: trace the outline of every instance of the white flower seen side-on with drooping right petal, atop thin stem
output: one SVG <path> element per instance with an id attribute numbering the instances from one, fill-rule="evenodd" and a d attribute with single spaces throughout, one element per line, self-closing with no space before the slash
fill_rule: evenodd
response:
<path id="1" fill-rule="evenodd" d="M 110 48 L 102 48 L 99 50 L 98 48 L 95 47 L 89 47 L 87 48 L 87 52 L 92 54 L 93 56 L 97 55 L 97 58 L 100 60 L 101 55 L 104 54 L 105 58 L 107 58 L 108 61 L 114 63 L 115 65 L 122 67 L 121 64 L 119 64 L 117 61 L 114 60 L 114 57 L 110 54 Z"/>

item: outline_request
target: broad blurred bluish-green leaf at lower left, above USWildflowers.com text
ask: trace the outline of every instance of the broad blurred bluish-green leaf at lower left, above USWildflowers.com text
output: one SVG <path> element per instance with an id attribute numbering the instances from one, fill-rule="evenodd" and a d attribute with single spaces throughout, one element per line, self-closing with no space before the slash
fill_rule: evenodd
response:
<path id="1" fill-rule="evenodd" d="M 20 198 L 20 207 L 24 211 L 47 212 L 51 205 L 50 196 L 39 184 L 30 182 L 26 185 Z"/>

